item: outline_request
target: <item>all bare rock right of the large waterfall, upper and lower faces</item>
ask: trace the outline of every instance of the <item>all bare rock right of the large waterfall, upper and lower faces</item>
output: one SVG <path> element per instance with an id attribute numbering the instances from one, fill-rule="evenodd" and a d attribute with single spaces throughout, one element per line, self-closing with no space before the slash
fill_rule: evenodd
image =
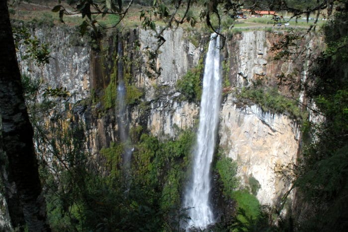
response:
<path id="1" fill-rule="evenodd" d="M 227 42 L 227 76 L 236 91 L 260 82 L 278 88 L 280 75 L 294 75 L 297 80 L 304 78 L 308 62 L 274 60 L 276 53 L 271 51 L 271 47 L 279 43 L 282 36 L 282 31 L 249 31 L 235 34 Z M 307 36 L 300 43 L 311 51 L 312 54 L 306 54 L 311 60 L 320 51 L 322 40 Z M 290 94 L 288 86 L 282 86 L 281 90 L 290 97 L 296 98 L 298 94 Z M 256 193 L 260 203 L 279 204 L 291 183 L 278 171 L 281 166 L 296 163 L 300 146 L 299 125 L 285 112 L 265 112 L 251 102 L 242 104 L 234 93 L 229 93 L 221 106 L 219 136 L 220 148 L 238 163 L 241 187 L 251 188 L 250 178 L 255 178 L 260 184 Z"/>

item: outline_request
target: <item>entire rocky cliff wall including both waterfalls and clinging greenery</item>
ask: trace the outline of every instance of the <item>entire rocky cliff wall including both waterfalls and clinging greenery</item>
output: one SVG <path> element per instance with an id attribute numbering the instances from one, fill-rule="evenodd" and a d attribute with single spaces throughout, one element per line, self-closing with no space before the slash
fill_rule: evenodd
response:
<path id="1" fill-rule="evenodd" d="M 282 215 L 298 209 L 282 172 L 296 165 L 308 113 L 292 100 L 300 92 L 278 80 L 303 80 L 307 64 L 274 59 L 271 49 L 288 31 L 230 32 L 220 48 L 209 33 L 167 29 L 155 53 L 152 30 L 91 41 L 69 26 L 26 26 L 51 50 L 44 67 L 26 60 L 24 45 L 17 56 L 22 74 L 43 78 L 38 107 L 55 103 L 33 118 L 41 118 L 36 136 L 48 135 L 35 141 L 40 163 L 57 175 L 41 170 L 56 230 L 214 231 L 242 217 L 238 208 L 246 213 L 241 221 L 258 217 L 259 205 Z M 311 56 L 322 43 L 313 33 L 299 46 Z M 69 94 L 47 97 L 50 89 Z M 0 225 L 8 227 L 1 212 Z"/>

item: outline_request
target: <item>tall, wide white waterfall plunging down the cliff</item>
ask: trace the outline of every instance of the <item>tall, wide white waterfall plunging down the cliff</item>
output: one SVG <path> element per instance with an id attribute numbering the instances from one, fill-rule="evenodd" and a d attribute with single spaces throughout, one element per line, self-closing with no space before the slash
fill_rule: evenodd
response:
<path id="1" fill-rule="evenodd" d="M 194 148 L 192 177 L 187 184 L 183 199 L 183 207 L 188 208 L 187 214 L 191 218 L 187 225 L 183 225 L 187 231 L 190 228 L 203 230 L 215 222 L 209 196 L 211 190 L 210 169 L 221 103 L 221 59 L 219 37 L 212 34 L 210 39 L 204 67 L 203 92 L 197 141 Z"/>

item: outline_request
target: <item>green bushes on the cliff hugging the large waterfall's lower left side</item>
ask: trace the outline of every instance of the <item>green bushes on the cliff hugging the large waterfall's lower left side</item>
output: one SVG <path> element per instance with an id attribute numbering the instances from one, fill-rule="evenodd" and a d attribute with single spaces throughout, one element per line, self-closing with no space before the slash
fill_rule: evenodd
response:
<path id="1" fill-rule="evenodd" d="M 194 134 L 184 131 L 177 140 L 164 142 L 143 134 L 140 141 L 138 151 L 134 154 L 140 164 L 137 172 L 149 184 L 160 184 L 162 210 L 168 212 L 173 208 L 178 209 Z"/>

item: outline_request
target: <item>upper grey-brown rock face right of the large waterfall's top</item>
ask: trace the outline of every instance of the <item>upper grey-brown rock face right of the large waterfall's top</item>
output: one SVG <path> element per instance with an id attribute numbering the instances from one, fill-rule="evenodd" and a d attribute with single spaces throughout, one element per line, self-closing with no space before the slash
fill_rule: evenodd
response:
<path id="1" fill-rule="evenodd" d="M 280 34 L 280 33 L 279 33 Z M 274 85 L 276 76 L 280 73 L 289 74 L 294 65 L 292 62 L 274 61 L 270 51 L 281 34 L 265 31 L 248 31 L 235 34 L 226 43 L 228 55 L 228 77 L 235 87 L 253 85 L 258 80 Z"/>

